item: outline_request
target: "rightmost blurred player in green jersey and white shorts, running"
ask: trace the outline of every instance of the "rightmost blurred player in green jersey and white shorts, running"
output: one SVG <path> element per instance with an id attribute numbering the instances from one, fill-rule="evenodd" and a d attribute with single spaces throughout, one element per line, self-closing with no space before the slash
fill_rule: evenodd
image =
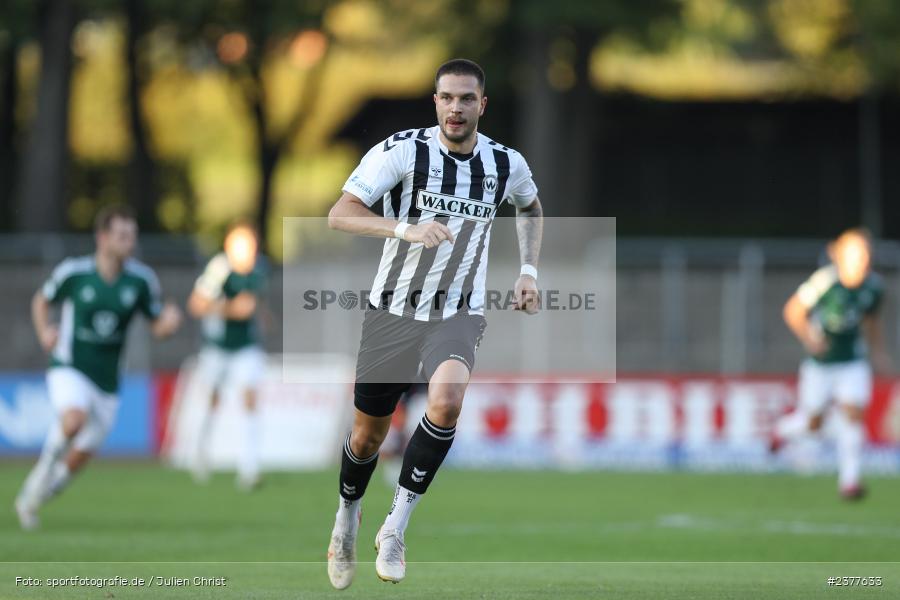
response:
<path id="1" fill-rule="evenodd" d="M 829 245 L 832 264 L 816 271 L 784 307 L 784 320 L 809 356 L 800 365 L 797 409 L 775 425 L 773 450 L 817 432 L 836 405 L 838 487 L 846 499 L 864 495 L 860 455 L 863 416 L 872 395 L 872 363 L 889 370 L 878 308 L 881 279 L 871 272 L 871 241 L 850 229 Z"/>

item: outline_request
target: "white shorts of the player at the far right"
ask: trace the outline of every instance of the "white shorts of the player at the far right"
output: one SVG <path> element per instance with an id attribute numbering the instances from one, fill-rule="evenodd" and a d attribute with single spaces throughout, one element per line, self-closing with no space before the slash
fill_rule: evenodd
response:
<path id="1" fill-rule="evenodd" d="M 864 408 L 872 397 L 872 367 L 864 360 L 822 364 L 806 359 L 797 382 L 800 408 L 821 414 L 831 402 Z"/>

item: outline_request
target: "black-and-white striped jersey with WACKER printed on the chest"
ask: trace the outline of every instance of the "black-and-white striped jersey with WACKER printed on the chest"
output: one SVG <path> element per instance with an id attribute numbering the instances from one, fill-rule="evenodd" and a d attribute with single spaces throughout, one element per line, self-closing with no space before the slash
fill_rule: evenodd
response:
<path id="1" fill-rule="evenodd" d="M 504 200 L 537 196 L 521 154 L 478 135 L 471 155 L 450 152 L 437 126 L 396 133 L 363 157 L 343 191 L 384 216 L 410 224 L 438 221 L 455 242 L 436 248 L 390 238 L 369 301 L 399 316 L 441 321 L 458 311 L 484 314 L 491 224 Z"/>

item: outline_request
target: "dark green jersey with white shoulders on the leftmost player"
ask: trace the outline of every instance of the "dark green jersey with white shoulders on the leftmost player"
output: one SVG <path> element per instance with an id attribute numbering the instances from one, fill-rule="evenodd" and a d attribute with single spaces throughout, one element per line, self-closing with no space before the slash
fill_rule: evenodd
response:
<path id="1" fill-rule="evenodd" d="M 104 392 L 115 393 L 131 318 L 140 311 L 156 319 L 162 310 L 156 274 L 128 259 L 118 278 L 108 282 L 97 271 L 94 256 L 67 258 L 53 270 L 42 293 L 51 303 L 62 304 L 51 367 L 74 367 Z"/>

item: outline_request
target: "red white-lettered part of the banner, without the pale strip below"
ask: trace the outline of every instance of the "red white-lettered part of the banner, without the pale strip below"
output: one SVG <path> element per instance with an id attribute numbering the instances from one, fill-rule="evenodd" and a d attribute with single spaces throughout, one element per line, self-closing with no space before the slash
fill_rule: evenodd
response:
<path id="1" fill-rule="evenodd" d="M 542 421 L 540 435 L 569 427 L 591 439 L 765 440 L 774 420 L 796 404 L 792 376 L 620 375 L 616 383 L 497 379 L 476 378 L 467 393 L 477 397 L 478 428 L 493 439 L 512 435 L 522 420 L 515 413 L 524 410 L 535 411 L 526 419 Z M 574 400 L 566 397 L 573 394 Z M 561 422 L 554 407 L 573 401 L 575 422 Z M 471 412 L 471 404 L 464 412 Z M 876 380 L 866 429 L 872 443 L 900 444 L 900 381 Z"/>

